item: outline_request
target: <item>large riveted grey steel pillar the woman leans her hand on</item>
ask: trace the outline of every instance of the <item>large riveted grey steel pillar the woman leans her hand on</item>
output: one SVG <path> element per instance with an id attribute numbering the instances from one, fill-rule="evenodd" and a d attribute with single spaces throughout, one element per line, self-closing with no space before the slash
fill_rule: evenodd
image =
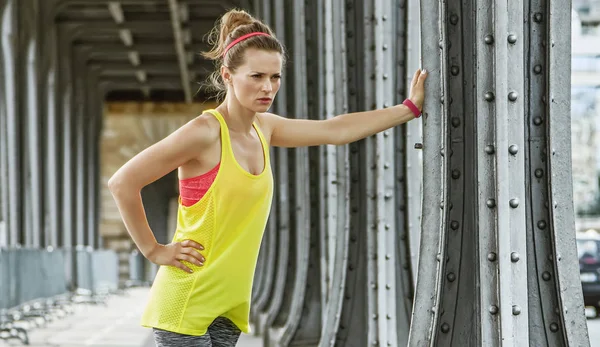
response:
<path id="1" fill-rule="evenodd" d="M 570 60 L 570 5 L 421 6 L 430 75 L 409 345 L 587 346 L 564 136 L 570 71 L 552 65 Z"/>

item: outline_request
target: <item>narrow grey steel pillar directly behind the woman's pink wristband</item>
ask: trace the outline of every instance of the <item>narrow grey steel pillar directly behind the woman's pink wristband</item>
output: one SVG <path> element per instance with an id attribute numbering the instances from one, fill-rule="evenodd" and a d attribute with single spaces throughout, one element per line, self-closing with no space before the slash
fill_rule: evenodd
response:
<path id="1" fill-rule="evenodd" d="M 419 64 L 419 5 L 416 1 L 397 1 L 390 13 L 395 24 L 395 64 L 384 71 L 395 70 L 393 100 L 401 103 L 409 95 L 410 83 Z M 407 77 L 409 78 L 407 80 Z M 421 142 L 421 121 L 408 122 L 394 131 L 395 152 L 387 163 L 395 163 L 395 329 L 399 345 L 408 341 L 410 313 L 414 297 L 414 275 L 416 265 L 411 267 L 413 257 L 418 254 L 421 216 L 421 151 L 414 144 Z M 415 261 L 416 263 L 416 261 Z"/>

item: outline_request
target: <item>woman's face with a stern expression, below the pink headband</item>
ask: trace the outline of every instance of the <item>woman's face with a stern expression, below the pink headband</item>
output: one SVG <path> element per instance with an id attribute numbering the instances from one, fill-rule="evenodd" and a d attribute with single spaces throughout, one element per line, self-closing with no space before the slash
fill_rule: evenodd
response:
<path id="1" fill-rule="evenodd" d="M 233 92 L 242 106 L 266 112 L 281 85 L 281 54 L 253 48 L 245 54 L 244 64 L 233 74 L 226 71 L 223 77 L 231 79 L 229 93 Z"/>

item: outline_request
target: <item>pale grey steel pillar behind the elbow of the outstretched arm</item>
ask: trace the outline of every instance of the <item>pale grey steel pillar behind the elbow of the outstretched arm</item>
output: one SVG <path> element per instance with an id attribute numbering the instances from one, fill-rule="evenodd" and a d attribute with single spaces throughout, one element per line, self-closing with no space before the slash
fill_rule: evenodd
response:
<path id="1" fill-rule="evenodd" d="M 324 40 L 324 110 L 327 118 L 348 111 L 346 16 L 341 0 L 327 0 L 323 11 Z M 319 346 L 340 344 L 338 332 L 345 333 L 340 326 L 341 312 L 348 302 L 345 285 L 349 267 L 350 203 L 349 203 L 349 151 L 348 146 L 328 146 L 327 152 L 327 207 L 326 232 L 321 237 L 321 281 L 323 328 Z"/>

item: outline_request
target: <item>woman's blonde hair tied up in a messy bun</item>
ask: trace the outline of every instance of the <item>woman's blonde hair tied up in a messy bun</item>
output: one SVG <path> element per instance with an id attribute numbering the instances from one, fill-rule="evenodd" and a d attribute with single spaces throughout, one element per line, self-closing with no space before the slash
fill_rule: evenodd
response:
<path id="1" fill-rule="evenodd" d="M 257 35 L 244 39 L 231 47 L 223 56 L 225 48 L 231 42 L 253 32 L 262 32 L 268 35 Z M 215 71 L 209 76 L 208 87 L 217 92 L 219 99 L 222 99 L 227 92 L 227 87 L 221 79 L 221 66 L 226 66 L 231 72 L 235 72 L 239 66 L 244 64 L 244 53 L 248 48 L 278 52 L 285 63 L 285 49 L 271 28 L 244 10 L 233 9 L 225 13 L 208 34 L 208 43 L 212 45 L 212 49 L 208 52 L 201 52 L 201 54 L 204 58 L 215 62 Z"/>

